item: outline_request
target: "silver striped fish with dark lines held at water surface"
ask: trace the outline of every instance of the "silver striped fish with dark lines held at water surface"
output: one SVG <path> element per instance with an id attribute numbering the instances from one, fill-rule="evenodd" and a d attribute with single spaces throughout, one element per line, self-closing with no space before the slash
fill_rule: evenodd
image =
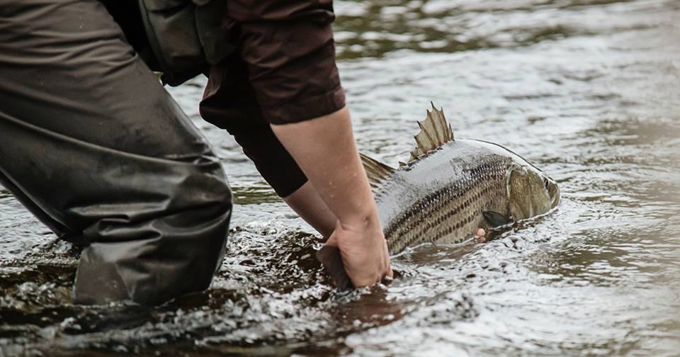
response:
<path id="1" fill-rule="evenodd" d="M 399 169 L 361 155 L 390 254 L 431 243 L 459 243 L 477 228 L 543 215 L 560 202 L 555 180 L 518 154 L 482 140 L 454 140 L 432 105 L 417 146 Z"/>

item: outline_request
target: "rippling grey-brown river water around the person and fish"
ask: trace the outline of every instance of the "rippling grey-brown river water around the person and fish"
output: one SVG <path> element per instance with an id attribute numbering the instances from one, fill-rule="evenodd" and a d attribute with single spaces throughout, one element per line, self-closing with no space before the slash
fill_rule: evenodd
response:
<path id="1" fill-rule="evenodd" d="M 419 246 L 339 294 L 317 237 L 170 89 L 236 206 L 212 288 L 162 307 L 70 302 L 77 251 L 0 188 L 0 356 L 680 356 L 680 1 L 336 1 L 360 149 L 397 165 L 430 101 L 560 184 L 484 244 Z M 58 189 L 58 188 L 55 188 Z"/>

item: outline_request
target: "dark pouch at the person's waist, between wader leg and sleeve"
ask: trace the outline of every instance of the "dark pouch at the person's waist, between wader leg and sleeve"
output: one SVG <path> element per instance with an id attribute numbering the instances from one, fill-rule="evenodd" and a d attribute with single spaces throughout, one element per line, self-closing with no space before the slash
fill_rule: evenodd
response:
<path id="1" fill-rule="evenodd" d="M 227 0 L 138 0 L 163 84 L 179 86 L 234 52 L 223 25 Z"/>

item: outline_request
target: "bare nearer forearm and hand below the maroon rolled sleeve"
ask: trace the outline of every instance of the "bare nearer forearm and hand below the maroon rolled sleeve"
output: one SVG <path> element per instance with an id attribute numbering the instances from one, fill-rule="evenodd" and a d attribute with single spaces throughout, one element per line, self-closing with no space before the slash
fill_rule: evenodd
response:
<path id="1" fill-rule="evenodd" d="M 308 195 L 301 192 L 301 196 L 320 198 L 337 217 L 338 224 L 326 245 L 337 246 L 346 276 L 353 285 L 373 285 L 385 276 L 391 277 L 385 236 L 356 150 L 347 109 L 300 123 L 272 125 L 272 130 L 314 188 Z M 306 207 L 310 205 L 307 202 Z M 312 206 L 323 205 L 317 201 Z M 322 256 L 331 260 L 338 257 Z M 338 266 L 329 265 L 329 261 L 324 264 Z M 331 271 L 337 282 L 340 274 L 336 273 Z"/>

